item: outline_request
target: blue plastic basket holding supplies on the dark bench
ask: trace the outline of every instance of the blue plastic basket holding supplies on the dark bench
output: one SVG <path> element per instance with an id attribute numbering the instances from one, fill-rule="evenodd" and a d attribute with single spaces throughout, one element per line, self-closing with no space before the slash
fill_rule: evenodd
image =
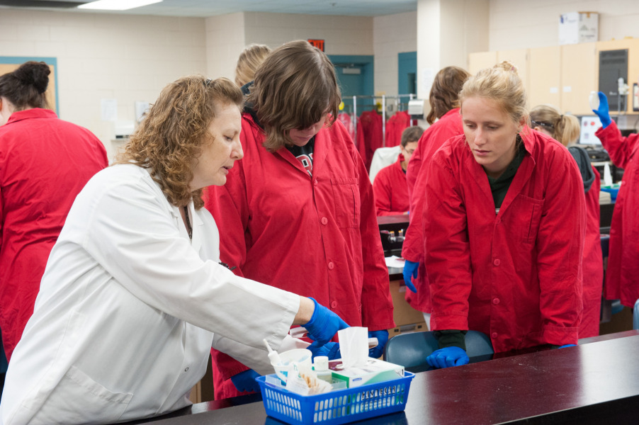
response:
<path id="1" fill-rule="evenodd" d="M 268 383 L 265 376 L 256 380 L 268 416 L 287 424 L 339 425 L 402 412 L 414 376 L 414 373 L 405 372 L 404 378 L 307 396 Z"/>

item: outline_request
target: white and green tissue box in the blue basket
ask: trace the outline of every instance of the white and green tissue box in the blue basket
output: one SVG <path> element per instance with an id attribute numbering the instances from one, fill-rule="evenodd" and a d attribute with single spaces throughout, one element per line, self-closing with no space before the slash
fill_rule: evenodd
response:
<path id="1" fill-rule="evenodd" d="M 344 381 L 349 388 L 404 378 L 404 366 L 371 357 L 359 368 L 344 369 L 341 359 L 329 361 L 329 370 L 333 373 L 333 382 Z"/>

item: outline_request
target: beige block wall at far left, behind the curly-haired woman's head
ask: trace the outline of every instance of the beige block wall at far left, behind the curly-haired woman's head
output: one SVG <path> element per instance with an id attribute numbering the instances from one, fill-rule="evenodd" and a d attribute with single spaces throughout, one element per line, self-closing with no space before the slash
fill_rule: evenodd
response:
<path id="1" fill-rule="evenodd" d="M 0 54 L 57 58 L 60 118 L 94 132 L 113 156 L 114 124 L 101 99 L 118 101 L 118 119 L 135 119 L 135 101 L 152 102 L 167 83 L 206 72 L 202 18 L 2 9 Z"/>

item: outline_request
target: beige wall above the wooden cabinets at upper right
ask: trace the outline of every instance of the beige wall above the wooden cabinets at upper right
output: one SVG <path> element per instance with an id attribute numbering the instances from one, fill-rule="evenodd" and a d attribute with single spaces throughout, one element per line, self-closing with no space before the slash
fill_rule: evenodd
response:
<path id="1" fill-rule="evenodd" d="M 637 0 L 490 0 L 488 50 L 547 47 L 559 44 L 559 16 L 599 12 L 599 40 L 639 38 Z"/>

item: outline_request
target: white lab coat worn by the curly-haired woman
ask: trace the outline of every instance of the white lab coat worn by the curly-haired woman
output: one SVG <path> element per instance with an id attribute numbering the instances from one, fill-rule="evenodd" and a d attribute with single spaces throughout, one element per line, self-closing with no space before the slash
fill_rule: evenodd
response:
<path id="1" fill-rule="evenodd" d="M 179 209 L 135 165 L 79 193 L 13 351 L 0 405 L 17 424 L 104 424 L 185 407 L 210 347 L 272 373 L 300 297 L 220 266 L 210 213 Z M 215 333 L 215 334 L 214 334 Z"/>

